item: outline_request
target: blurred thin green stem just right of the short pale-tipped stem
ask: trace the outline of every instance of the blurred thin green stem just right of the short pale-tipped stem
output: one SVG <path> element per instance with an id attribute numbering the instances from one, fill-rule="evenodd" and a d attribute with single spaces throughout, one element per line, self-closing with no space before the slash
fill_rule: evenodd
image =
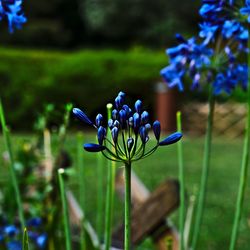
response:
<path id="1" fill-rule="evenodd" d="M 80 206 L 83 211 L 85 211 L 85 171 L 84 171 L 84 162 L 83 162 L 83 149 L 82 149 L 82 142 L 83 142 L 83 134 L 79 133 L 77 135 L 77 170 L 78 170 L 78 181 L 79 181 L 79 201 Z M 86 250 L 86 237 L 84 232 L 84 218 L 81 221 L 81 250 Z"/>

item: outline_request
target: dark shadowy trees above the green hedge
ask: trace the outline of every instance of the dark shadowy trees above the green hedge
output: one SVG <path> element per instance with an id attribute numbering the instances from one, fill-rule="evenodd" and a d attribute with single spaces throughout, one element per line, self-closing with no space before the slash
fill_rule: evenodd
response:
<path id="1" fill-rule="evenodd" d="M 28 22 L 0 43 L 29 47 L 77 48 L 165 46 L 174 34 L 197 29 L 199 1 L 191 0 L 24 0 Z"/>

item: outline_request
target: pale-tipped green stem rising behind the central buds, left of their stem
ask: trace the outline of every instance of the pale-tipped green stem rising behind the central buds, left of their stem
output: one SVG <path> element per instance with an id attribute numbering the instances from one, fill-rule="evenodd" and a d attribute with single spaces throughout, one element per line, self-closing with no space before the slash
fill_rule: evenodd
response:
<path id="1" fill-rule="evenodd" d="M 112 104 L 107 104 L 108 120 L 111 118 Z M 107 135 L 111 139 L 111 134 Z M 111 245 L 111 230 L 114 210 L 114 192 L 115 192 L 115 162 L 109 161 L 108 166 L 108 188 L 106 194 L 106 209 L 105 209 L 105 250 L 110 249 Z"/>

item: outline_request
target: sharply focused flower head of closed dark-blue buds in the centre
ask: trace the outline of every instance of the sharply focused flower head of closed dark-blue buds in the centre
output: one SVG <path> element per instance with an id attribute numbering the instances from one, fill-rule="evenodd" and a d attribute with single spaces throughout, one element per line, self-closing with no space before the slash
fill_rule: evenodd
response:
<path id="1" fill-rule="evenodd" d="M 86 114 L 78 109 L 73 109 L 73 114 L 81 121 L 92 125 L 97 129 L 98 144 L 88 143 L 84 149 L 89 152 L 102 152 L 103 155 L 117 162 L 133 162 L 151 155 L 158 146 L 165 146 L 179 141 L 181 133 L 173 133 L 160 141 L 161 125 L 155 121 L 149 123 L 149 114 L 143 110 L 142 102 L 137 100 L 134 111 L 125 104 L 125 94 L 120 92 L 115 98 L 115 109 L 112 110 L 112 118 L 108 120 L 107 126 L 101 114 L 96 116 L 95 123 Z M 106 128 L 109 128 L 111 138 L 107 136 Z M 147 149 L 149 131 L 153 129 L 156 145 Z"/>

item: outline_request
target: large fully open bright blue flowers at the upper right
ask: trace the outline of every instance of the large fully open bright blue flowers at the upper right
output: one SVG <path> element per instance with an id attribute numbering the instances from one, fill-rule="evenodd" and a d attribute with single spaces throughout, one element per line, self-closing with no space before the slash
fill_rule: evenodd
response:
<path id="1" fill-rule="evenodd" d="M 192 90 L 201 89 L 207 83 L 212 84 L 215 95 L 231 94 L 237 86 L 246 90 L 250 0 L 246 0 L 245 5 L 240 2 L 202 1 L 201 41 L 187 40 L 178 34 L 179 45 L 166 50 L 170 64 L 161 70 L 161 75 L 169 87 L 176 86 L 183 91 L 185 77 L 189 77 Z"/>

